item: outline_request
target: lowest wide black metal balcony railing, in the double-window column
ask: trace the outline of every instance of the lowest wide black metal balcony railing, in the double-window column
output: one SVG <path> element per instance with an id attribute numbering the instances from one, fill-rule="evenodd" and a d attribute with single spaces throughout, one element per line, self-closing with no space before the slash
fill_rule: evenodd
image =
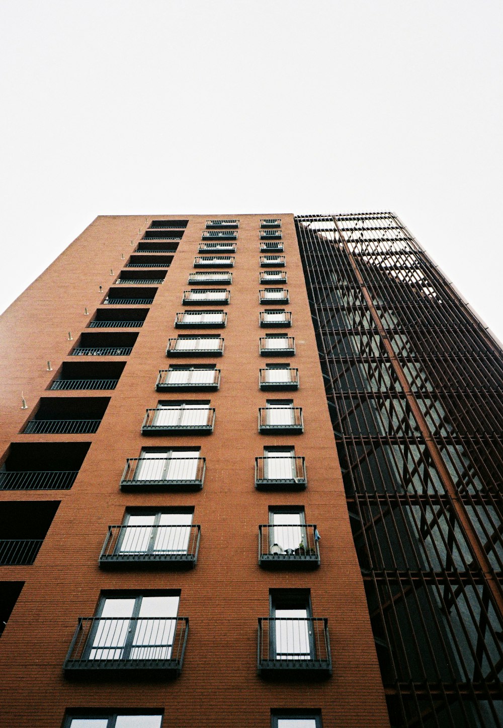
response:
<path id="1" fill-rule="evenodd" d="M 63 669 L 180 674 L 188 617 L 79 617 Z"/>

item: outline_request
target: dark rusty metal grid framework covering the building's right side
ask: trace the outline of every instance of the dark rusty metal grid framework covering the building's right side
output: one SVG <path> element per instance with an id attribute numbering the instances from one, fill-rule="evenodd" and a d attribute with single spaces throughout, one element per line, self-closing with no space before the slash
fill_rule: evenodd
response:
<path id="1" fill-rule="evenodd" d="M 302 215 L 393 727 L 503 724 L 503 352 L 392 213 Z"/>

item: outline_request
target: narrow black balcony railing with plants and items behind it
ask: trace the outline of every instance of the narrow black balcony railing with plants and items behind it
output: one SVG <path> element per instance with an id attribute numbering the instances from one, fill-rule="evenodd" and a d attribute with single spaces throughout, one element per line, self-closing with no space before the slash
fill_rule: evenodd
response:
<path id="1" fill-rule="evenodd" d="M 320 566 L 320 550 L 313 523 L 259 526 L 259 565 L 294 569 Z"/>

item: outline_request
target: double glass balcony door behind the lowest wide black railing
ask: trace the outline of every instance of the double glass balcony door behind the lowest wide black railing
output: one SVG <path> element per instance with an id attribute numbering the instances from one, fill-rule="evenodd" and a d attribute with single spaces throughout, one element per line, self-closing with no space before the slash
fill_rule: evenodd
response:
<path id="1" fill-rule="evenodd" d="M 169 660 L 179 596 L 102 598 L 86 647 L 88 660 Z"/>

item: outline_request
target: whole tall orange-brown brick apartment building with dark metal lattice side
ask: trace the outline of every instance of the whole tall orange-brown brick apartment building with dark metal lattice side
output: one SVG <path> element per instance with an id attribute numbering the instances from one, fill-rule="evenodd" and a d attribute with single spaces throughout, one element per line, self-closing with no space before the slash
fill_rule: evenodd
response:
<path id="1" fill-rule="evenodd" d="M 2 727 L 500 724 L 502 352 L 398 218 L 99 217 L 0 334 Z"/>

